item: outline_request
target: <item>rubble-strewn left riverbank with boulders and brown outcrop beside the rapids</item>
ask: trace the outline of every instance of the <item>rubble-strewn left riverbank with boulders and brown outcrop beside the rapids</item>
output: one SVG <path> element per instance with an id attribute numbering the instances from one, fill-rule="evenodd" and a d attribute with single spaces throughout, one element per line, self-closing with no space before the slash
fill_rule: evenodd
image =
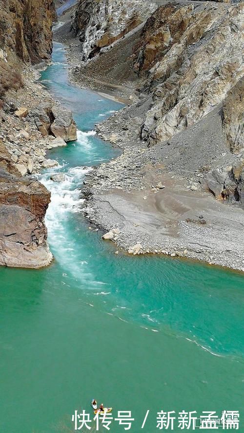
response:
<path id="1" fill-rule="evenodd" d="M 75 140 L 76 125 L 37 82 L 50 62 L 32 66 L 8 55 L 11 62 L 21 85 L 0 100 L 0 265 L 41 268 L 53 260 L 44 222 L 51 194 L 37 174 L 58 166 L 47 152 Z"/>

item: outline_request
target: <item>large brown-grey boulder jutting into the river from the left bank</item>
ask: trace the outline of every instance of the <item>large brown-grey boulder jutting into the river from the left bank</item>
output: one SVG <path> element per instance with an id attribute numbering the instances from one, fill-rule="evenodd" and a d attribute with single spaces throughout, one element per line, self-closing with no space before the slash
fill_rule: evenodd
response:
<path id="1" fill-rule="evenodd" d="M 63 107 L 52 108 L 54 121 L 50 130 L 55 137 L 61 137 L 64 141 L 77 140 L 76 123 L 69 109 Z"/>

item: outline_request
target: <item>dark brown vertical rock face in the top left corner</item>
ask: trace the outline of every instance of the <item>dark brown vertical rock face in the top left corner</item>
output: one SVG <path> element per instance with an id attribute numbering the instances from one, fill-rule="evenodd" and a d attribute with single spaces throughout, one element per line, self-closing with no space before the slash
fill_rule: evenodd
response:
<path id="1" fill-rule="evenodd" d="M 0 0 L 0 47 L 25 62 L 50 59 L 54 0 Z"/>

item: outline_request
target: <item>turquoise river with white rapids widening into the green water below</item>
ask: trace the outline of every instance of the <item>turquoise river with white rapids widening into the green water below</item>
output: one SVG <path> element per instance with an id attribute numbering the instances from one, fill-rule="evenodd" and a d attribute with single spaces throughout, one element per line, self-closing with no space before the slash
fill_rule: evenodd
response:
<path id="1" fill-rule="evenodd" d="M 121 105 L 73 87 L 60 44 L 42 81 L 71 108 L 78 141 L 55 149 L 41 181 L 55 256 L 41 270 L 0 268 L 0 432 L 65 432 L 89 402 L 132 411 L 131 432 L 157 432 L 157 411 L 239 410 L 244 432 L 244 277 L 200 263 L 127 257 L 88 229 L 80 190 L 117 151 L 93 132 Z M 64 183 L 50 173 L 64 172 Z M 66 427 L 67 426 L 67 429 Z M 176 424 L 177 427 L 177 424 Z M 106 431 L 101 427 L 101 430 Z M 118 422 L 113 431 L 124 431 Z M 85 430 L 88 432 L 88 430 Z"/>

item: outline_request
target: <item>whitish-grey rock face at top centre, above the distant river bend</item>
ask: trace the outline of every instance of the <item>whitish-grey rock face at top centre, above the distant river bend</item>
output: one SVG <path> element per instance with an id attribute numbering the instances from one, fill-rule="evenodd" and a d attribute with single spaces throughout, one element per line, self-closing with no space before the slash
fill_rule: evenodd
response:
<path id="1" fill-rule="evenodd" d="M 148 0 L 80 0 L 72 26 L 82 43 L 82 60 L 122 39 L 155 9 Z"/>

